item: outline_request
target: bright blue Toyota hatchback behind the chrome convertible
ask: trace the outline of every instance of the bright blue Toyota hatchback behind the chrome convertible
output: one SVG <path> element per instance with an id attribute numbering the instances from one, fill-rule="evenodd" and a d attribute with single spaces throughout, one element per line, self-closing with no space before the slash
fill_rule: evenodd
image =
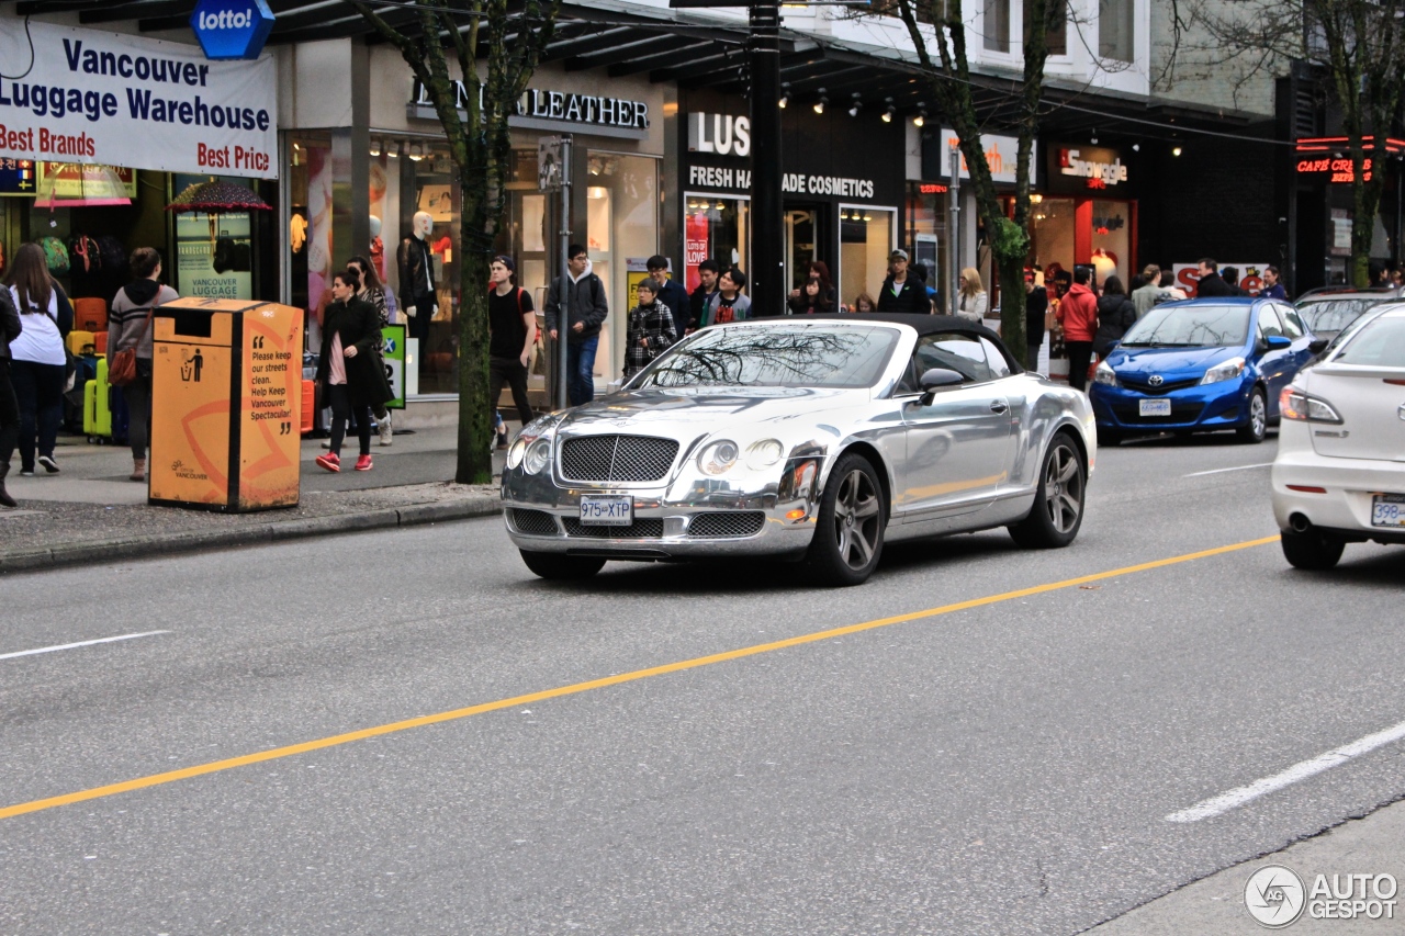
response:
<path id="1" fill-rule="evenodd" d="M 1097 365 L 1089 396 L 1099 444 L 1127 436 L 1234 429 L 1263 441 L 1279 392 L 1312 360 L 1287 302 L 1189 299 L 1154 306 Z"/>

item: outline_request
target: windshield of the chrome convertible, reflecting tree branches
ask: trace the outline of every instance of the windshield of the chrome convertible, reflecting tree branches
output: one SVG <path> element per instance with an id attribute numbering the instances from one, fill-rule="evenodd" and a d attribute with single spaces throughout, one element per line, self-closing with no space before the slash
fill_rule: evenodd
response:
<path id="1" fill-rule="evenodd" d="M 898 330 L 830 323 L 711 327 L 670 349 L 635 381 L 646 386 L 873 386 Z"/>

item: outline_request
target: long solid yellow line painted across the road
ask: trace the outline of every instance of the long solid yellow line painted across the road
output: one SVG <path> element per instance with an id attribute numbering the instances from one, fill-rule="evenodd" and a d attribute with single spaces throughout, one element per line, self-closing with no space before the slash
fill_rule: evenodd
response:
<path id="1" fill-rule="evenodd" d="M 725 663 L 733 659 L 743 659 L 746 656 L 756 656 L 757 654 L 770 654 L 771 651 L 785 649 L 788 646 L 801 646 L 804 644 L 815 644 L 818 641 L 828 641 L 835 637 L 844 637 L 846 634 L 857 634 L 860 631 L 871 631 L 878 627 L 888 627 L 891 624 L 902 624 L 905 621 L 916 621 L 924 617 L 937 617 L 940 614 L 951 614 L 954 611 L 965 611 L 974 607 L 985 607 L 988 604 L 999 604 L 1002 602 L 1012 602 L 1014 599 L 1028 597 L 1031 594 L 1044 594 L 1045 592 L 1058 592 L 1061 589 L 1075 587 L 1078 585 L 1087 585 L 1089 582 L 1100 582 L 1104 579 L 1117 578 L 1120 575 L 1131 575 L 1134 572 L 1149 572 L 1152 569 L 1162 569 L 1168 565 L 1179 565 L 1182 562 L 1191 562 L 1194 559 L 1204 559 L 1213 555 L 1224 555 L 1227 552 L 1238 552 L 1239 550 L 1250 550 L 1253 547 L 1267 545 L 1270 542 L 1277 542 L 1279 537 L 1264 537 L 1262 540 L 1249 540 L 1246 542 L 1235 542 L 1232 545 L 1215 547 L 1214 550 L 1201 550 L 1198 552 L 1187 552 L 1184 555 L 1172 557 L 1169 559 L 1156 559 L 1154 562 L 1141 562 L 1138 565 L 1128 565 L 1120 569 L 1111 569 L 1110 572 L 1094 572 L 1093 575 L 1082 575 L 1076 579 L 1064 579 L 1062 582 L 1051 582 L 1048 585 L 1035 585 L 1027 589 L 1017 589 L 1014 592 L 1002 592 L 1000 594 L 991 594 L 986 597 L 971 599 L 967 602 L 955 602 L 954 604 L 943 604 L 940 607 L 932 607 L 924 611 L 910 611 L 908 614 L 896 614 L 894 617 L 881 617 L 874 621 L 864 621 L 863 624 L 849 624 L 846 627 L 835 627 L 828 631 L 816 631 L 813 634 L 802 634 L 799 637 L 790 637 L 783 641 L 771 641 L 770 644 L 756 644 L 753 646 L 743 646 L 740 649 L 725 651 L 722 654 L 710 654 L 708 656 L 695 656 L 693 659 L 679 661 L 676 663 L 665 663 L 662 666 L 649 666 L 648 669 L 636 669 L 628 673 L 618 673 L 615 676 L 606 676 L 604 679 L 592 679 L 583 683 L 572 683 L 569 686 L 558 686 L 556 689 L 547 689 L 540 693 L 528 693 L 525 696 L 513 696 L 511 698 L 499 698 L 497 701 L 482 703 L 479 706 L 469 706 L 466 708 L 455 708 L 452 711 L 441 711 L 434 715 L 422 715 L 419 718 L 406 718 L 405 721 L 392 721 L 388 725 L 375 725 L 374 728 L 361 728 L 360 731 L 348 731 L 341 735 L 332 735 L 329 738 L 318 738 L 315 741 L 305 741 L 298 745 L 287 745 L 284 748 L 273 748 L 270 750 L 260 750 L 256 753 L 242 755 L 239 758 L 226 758 L 223 760 L 211 760 L 209 763 L 195 765 L 192 767 L 181 767 L 180 770 L 167 770 L 166 773 L 153 773 L 148 777 L 136 777 L 135 780 L 124 780 L 121 783 L 110 783 L 103 787 L 93 787 L 90 790 L 79 790 L 76 793 L 65 793 L 58 797 L 48 797 L 44 800 L 31 800 L 28 802 L 17 802 L 10 807 L 0 808 L 0 819 L 8 819 L 11 817 L 24 815 L 27 812 L 39 812 L 42 810 L 52 810 L 55 807 L 72 805 L 74 802 L 84 802 L 87 800 L 101 800 L 104 797 L 111 797 L 118 793 L 131 793 L 132 790 L 145 790 L 148 787 L 159 787 L 163 783 L 174 783 L 177 780 L 190 780 L 192 777 L 202 777 L 209 773 L 219 773 L 222 770 L 232 770 L 235 767 L 247 767 L 254 763 L 263 763 L 266 760 L 278 760 L 281 758 L 292 758 L 295 755 L 308 753 L 311 750 L 322 750 L 325 748 L 336 748 L 339 745 L 351 743 L 353 741 L 365 741 L 367 738 L 379 738 L 381 735 L 392 735 L 399 731 L 409 731 L 410 728 L 423 728 L 426 725 L 438 725 L 445 721 L 457 721 L 459 718 L 469 718 L 472 715 L 482 715 L 489 711 L 500 711 L 503 708 L 513 708 L 516 706 L 528 706 L 532 703 L 545 701 L 548 698 L 561 698 L 562 696 L 575 696 L 577 693 L 586 693 L 593 689 L 606 689 L 607 686 L 618 686 L 621 683 L 632 683 L 639 679 L 649 679 L 651 676 L 665 676 L 667 673 L 679 673 L 686 669 L 698 669 L 700 666 L 711 666 L 712 663 Z"/>

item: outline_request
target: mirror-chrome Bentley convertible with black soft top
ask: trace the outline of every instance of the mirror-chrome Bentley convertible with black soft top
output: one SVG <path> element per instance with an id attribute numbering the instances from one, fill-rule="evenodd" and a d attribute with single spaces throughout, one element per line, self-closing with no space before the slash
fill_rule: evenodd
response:
<path id="1" fill-rule="evenodd" d="M 1068 545 L 1096 444 L 1087 396 L 1024 372 L 978 323 L 756 319 L 525 426 L 503 506 L 548 579 L 608 559 L 773 557 L 858 585 L 885 541 L 1009 527 L 1020 545 Z"/>

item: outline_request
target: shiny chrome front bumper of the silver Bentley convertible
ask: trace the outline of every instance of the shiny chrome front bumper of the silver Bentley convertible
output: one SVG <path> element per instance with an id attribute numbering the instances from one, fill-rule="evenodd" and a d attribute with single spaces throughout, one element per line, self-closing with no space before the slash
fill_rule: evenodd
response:
<path id="1" fill-rule="evenodd" d="M 811 462 L 808 485 L 797 483 Z M 710 478 L 695 471 L 656 485 L 577 483 L 548 468 L 503 472 L 503 520 L 518 550 L 610 559 L 764 555 L 799 558 L 815 535 L 819 458 L 791 458 L 769 475 Z M 580 524 L 586 495 L 634 500 L 629 527 Z"/>

